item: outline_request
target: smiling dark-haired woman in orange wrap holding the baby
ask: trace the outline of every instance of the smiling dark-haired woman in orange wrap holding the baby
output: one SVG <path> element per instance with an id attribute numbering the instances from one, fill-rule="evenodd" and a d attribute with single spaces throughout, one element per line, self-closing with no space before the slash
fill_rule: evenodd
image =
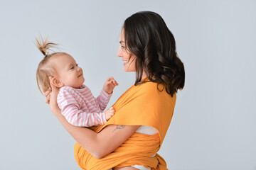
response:
<path id="1" fill-rule="evenodd" d="M 156 152 L 185 81 L 174 36 L 159 14 L 144 11 L 124 21 L 119 43 L 124 71 L 136 72 L 136 81 L 114 103 L 116 113 L 105 125 L 94 131 L 70 125 L 56 104 L 54 86 L 45 93 L 46 103 L 78 142 L 75 159 L 81 169 L 166 169 Z"/>

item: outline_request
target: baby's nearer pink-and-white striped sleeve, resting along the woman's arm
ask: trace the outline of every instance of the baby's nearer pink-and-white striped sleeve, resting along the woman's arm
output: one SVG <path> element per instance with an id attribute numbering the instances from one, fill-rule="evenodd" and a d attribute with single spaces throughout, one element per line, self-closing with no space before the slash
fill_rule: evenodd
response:
<path id="1" fill-rule="evenodd" d="M 87 113 L 80 110 L 79 102 L 82 100 L 72 88 L 60 89 L 57 103 L 61 113 L 68 123 L 80 126 L 91 127 L 103 125 L 107 122 L 105 113 Z"/>

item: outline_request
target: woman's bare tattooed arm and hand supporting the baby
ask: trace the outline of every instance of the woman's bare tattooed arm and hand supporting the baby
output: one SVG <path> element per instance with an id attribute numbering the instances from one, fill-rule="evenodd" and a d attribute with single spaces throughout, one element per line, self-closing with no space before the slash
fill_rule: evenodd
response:
<path id="1" fill-rule="evenodd" d="M 49 94 L 49 91 L 46 92 L 46 96 L 48 96 L 47 94 Z M 139 125 L 107 125 L 101 132 L 96 133 L 87 128 L 71 125 L 61 114 L 60 108 L 58 108 L 57 95 L 58 89 L 52 86 L 52 91 L 50 96 L 47 97 L 46 103 L 48 103 L 48 99 L 50 99 L 50 109 L 63 127 L 73 136 L 81 147 L 97 159 L 113 152 L 114 149 L 122 145 L 122 143 L 139 128 Z"/>

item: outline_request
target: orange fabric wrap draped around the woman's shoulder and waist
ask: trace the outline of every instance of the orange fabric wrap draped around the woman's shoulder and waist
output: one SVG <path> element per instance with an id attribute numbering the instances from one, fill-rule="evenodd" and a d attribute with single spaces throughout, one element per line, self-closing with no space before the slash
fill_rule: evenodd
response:
<path id="1" fill-rule="evenodd" d="M 107 125 L 148 125 L 159 131 L 159 135 L 144 135 L 135 132 L 114 152 L 102 159 L 95 159 L 80 145 L 75 144 L 75 159 L 81 169 L 119 169 L 124 166 L 142 165 L 151 169 L 167 169 L 166 162 L 156 152 L 164 140 L 171 123 L 176 103 L 167 94 L 164 86 L 151 81 L 132 86 L 119 97 L 113 107 L 114 116 L 105 125 L 95 128 L 100 132 Z M 160 142 L 159 142 L 160 140 Z M 151 157 L 156 154 L 155 157 Z"/>

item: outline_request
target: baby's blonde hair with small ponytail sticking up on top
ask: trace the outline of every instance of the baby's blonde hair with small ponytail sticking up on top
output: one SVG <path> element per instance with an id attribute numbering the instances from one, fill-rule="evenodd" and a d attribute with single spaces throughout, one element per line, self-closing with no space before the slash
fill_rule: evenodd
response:
<path id="1" fill-rule="evenodd" d="M 38 47 L 38 50 L 40 50 L 44 55 L 43 60 L 41 60 L 41 62 L 38 64 L 38 69 L 36 71 L 36 83 L 39 91 L 41 91 L 42 87 L 43 92 L 45 92 L 50 88 L 49 77 L 57 76 L 57 72 L 55 71 L 53 64 L 49 62 L 50 58 L 55 55 L 68 55 L 68 53 L 53 52 L 50 54 L 49 51 L 53 51 L 53 48 L 58 49 L 58 44 L 49 42 L 48 38 L 43 39 L 41 35 L 36 38 L 35 44 L 36 47 Z M 41 94 L 43 94 L 43 92 L 41 91 Z"/>

